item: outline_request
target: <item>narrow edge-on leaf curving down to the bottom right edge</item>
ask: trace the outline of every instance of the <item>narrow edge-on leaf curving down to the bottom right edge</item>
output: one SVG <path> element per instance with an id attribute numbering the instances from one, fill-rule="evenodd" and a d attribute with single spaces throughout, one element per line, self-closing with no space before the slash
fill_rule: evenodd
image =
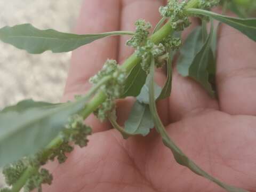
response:
<path id="1" fill-rule="evenodd" d="M 223 189 L 226 189 L 229 192 L 246 192 L 246 190 L 241 188 L 236 188 L 233 186 L 229 186 L 226 183 L 221 182 L 220 180 L 212 177 L 210 174 L 202 170 L 198 165 L 196 165 L 191 159 L 189 159 L 186 154 L 183 153 L 183 151 L 172 141 L 172 139 L 167 134 L 165 127 L 161 121 L 161 119 L 158 116 L 157 109 L 156 109 L 156 103 L 155 103 L 155 93 L 154 93 L 154 62 L 150 67 L 150 81 L 149 81 L 149 108 L 156 126 L 156 129 L 158 133 L 161 135 L 164 145 L 171 149 L 173 156 L 175 158 L 175 161 L 179 163 L 180 165 L 188 167 L 191 171 L 194 173 L 201 175 L 202 177 L 209 179 L 210 181 L 216 183 Z"/>

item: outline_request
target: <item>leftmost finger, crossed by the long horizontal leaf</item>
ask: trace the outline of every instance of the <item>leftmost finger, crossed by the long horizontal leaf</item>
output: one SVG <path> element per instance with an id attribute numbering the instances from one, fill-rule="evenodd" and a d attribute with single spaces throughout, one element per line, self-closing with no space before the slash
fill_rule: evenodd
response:
<path id="1" fill-rule="evenodd" d="M 85 0 L 79 16 L 78 34 L 103 33 L 119 30 L 120 1 L 111 3 L 101 0 Z M 100 39 L 73 52 L 63 100 L 72 100 L 75 94 L 84 94 L 90 89 L 88 79 L 96 74 L 106 59 L 117 58 L 117 37 Z M 109 129 L 108 123 L 100 123 L 93 115 L 86 119 L 93 132 Z"/>

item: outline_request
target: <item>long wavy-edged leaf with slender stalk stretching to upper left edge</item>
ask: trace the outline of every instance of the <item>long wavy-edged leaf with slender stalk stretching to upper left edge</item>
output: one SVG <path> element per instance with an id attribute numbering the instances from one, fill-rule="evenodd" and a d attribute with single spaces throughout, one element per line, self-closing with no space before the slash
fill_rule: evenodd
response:
<path id="1" fill-rule="evenodd" d="M 61 33 L 53 29 L 39 30 L 30 24 L 22 24 L 0 29 L 0 39 L 29 53 L 45 51 L 54 53 L 69 52 L 97 39 L 113 35 L 133 35 L 129 31 L 112 31 L 102 34 L 77 35 Z"/>

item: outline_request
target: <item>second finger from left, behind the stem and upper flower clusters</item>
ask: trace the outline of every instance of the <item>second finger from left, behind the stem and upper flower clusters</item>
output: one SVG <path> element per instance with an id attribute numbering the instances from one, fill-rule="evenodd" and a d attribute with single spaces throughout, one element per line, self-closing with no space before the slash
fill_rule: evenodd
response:
<path id="1" fill-rule="evenodd" d="M 161 19 L 161 15 L 158 12 L 159 6 L 163 6 L 165 3 L 164 0 L 123 0 L 122 1 L 122 13 L 121 13 L 121 30 L 134 30 L 134 23 L 138 19 L 145 19 L 146 21 L 150 22 L 151 25 L 155 26 L 157 22 Z M 151 29 L 153 30 L 153 29 Z M 118 61 L 122 63 L 127 57 L 129 57 L 133 52 L 134 49 L 125 45 L 127 39 L 129 37 L 120 37 L 119 43 L 119 53 L 118 53 Z M 165 82 L 166 76 L 163 73 L 163 70 L 156 71 L 156 82 L 163 86 Z M 129 105 L 124 101 L 121 105 Z M 130 104 L 131 106 L 131 104 Z M 161 117 L 164 123 L 167 123 L 167 113 L 168 113 L 168 100 L 163 100 L 158 102 L 158 108 L 161 113 Z M 125 117 L 127 113 L 124 110 L 119 109 L 119 117 L 121 119 L 126 119 Z"/>

